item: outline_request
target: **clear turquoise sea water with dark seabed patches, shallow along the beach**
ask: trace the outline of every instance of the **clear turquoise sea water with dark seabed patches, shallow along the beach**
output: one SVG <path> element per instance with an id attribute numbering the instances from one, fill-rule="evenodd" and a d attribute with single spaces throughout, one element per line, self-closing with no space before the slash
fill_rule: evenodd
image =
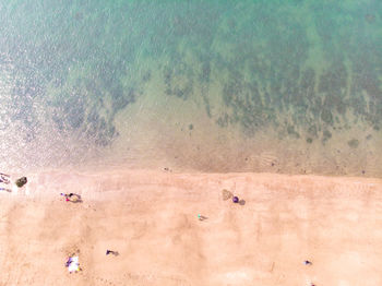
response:
<path id="1" fill-rule="evenodd" d="M 382 176 L 382 2 L 0 1 L 0 168 Z"/>

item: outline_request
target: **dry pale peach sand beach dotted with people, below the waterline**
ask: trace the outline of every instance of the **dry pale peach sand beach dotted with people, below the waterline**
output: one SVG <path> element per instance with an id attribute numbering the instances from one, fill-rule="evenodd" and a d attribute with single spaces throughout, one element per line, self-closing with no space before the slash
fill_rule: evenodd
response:
<path id="1" fill-rule="evenodd" d="M 0 192 L 0 285 L 382 285 L 379 179 L 144 170 L 28 179 L 17 194 Z M 246 204 L 223 201 L 222 189 Z M 69 274 L 76 250 L 83 271 Z"/>

